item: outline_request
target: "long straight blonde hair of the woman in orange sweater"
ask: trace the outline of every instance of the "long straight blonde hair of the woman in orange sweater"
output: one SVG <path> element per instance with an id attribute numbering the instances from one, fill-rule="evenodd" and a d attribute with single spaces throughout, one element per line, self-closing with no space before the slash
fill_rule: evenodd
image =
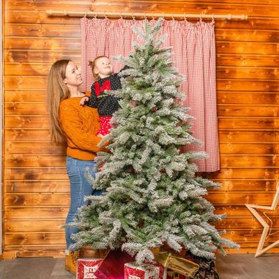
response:
<path id="1" fill-rule="evenodd" d="M 70 97 L 70 91 L 64 82 L 66 68 L 70 61 L 63 59 L 53 63 L 47 80 L 47 110 L 50 113 L 50 138 L 56 144 L 66 142 L 66 137 L 59 122 L 59 105 L 62 100 Z"/>

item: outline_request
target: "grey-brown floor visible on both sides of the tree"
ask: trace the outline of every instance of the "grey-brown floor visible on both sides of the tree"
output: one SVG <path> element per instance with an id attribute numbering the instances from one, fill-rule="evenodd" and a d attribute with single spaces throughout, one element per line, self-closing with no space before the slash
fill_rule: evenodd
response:
<path id="1" fill-rule="evenodd" d="M 279 279 L 279 255 L 218 256 L 220 279 Z M 0 262 L 1 279 L 75 279 L 64 269 L 61 258 L 18 258 Z"/>

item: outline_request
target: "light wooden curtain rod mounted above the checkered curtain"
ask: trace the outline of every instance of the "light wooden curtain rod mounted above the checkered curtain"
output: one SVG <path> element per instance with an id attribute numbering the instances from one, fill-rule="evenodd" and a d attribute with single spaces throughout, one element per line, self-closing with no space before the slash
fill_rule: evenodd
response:
<path id="1" fill-rule="evenodd" d="M 116 12 L 75 12 L 71 10 L 46 10 L 47 15 L 54 17 L 144 17 L 144 18 L 155 18 L 155 17 L 170 17 L 174 18 L 209 18 L 209 19 L 223 19 L 223 20 L 248 20 L 248 15 L 206 15 L 204 13 L 116 13 Z"/>

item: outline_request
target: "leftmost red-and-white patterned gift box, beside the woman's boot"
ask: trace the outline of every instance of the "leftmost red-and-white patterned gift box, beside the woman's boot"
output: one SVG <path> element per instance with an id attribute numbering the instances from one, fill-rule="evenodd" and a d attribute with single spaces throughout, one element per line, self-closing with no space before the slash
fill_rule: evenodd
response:
<path id="1" fill-rule="evenodd" d="M 95 271 L 103 259 L 77 259 L 77 279 L 95 279 Z"/>

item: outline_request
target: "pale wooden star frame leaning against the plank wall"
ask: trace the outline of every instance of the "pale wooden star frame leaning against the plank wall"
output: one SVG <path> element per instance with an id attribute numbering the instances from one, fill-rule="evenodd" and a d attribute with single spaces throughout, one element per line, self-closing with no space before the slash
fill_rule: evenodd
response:
<path id="1" fill-rule="evenodd" d="M 257 211 L 255 210 L 255 209 L 266 209 L 266 210 L 273 211 L 274 209 L 276 209 L 276 206 L 278 205 L 278 202 L 279 202 L 279 182 L 277 183 L 276 188 L 277 188 L 276 194 L 273 197 L 273 202 L 272 202 L 271 206 L 246 204 L 247 208 L 250 210 L 252 215 L 255 216 L 255 218 L 259 221 L 259 223 L 261 223 L 262 226 L 264 227 L 264 230 L 262 231 L 261 239 L 259 240 L 259 245 L 257 246 L 257 252 L 255 254 L 255 257 L 262 256 L 265 252 L 267 252 L 271 248 L 279 245 L 279 240 L 278 240 L 278 241 L 273 242 L 271 245 L 267 246 L 266 248 L 264 248 L 264 242 L 265 242 L 266 236 L 269 232 L 269 225 L 262 218 L 262 216 L 260 216 L 259 213 L 257 213 Z"/>

